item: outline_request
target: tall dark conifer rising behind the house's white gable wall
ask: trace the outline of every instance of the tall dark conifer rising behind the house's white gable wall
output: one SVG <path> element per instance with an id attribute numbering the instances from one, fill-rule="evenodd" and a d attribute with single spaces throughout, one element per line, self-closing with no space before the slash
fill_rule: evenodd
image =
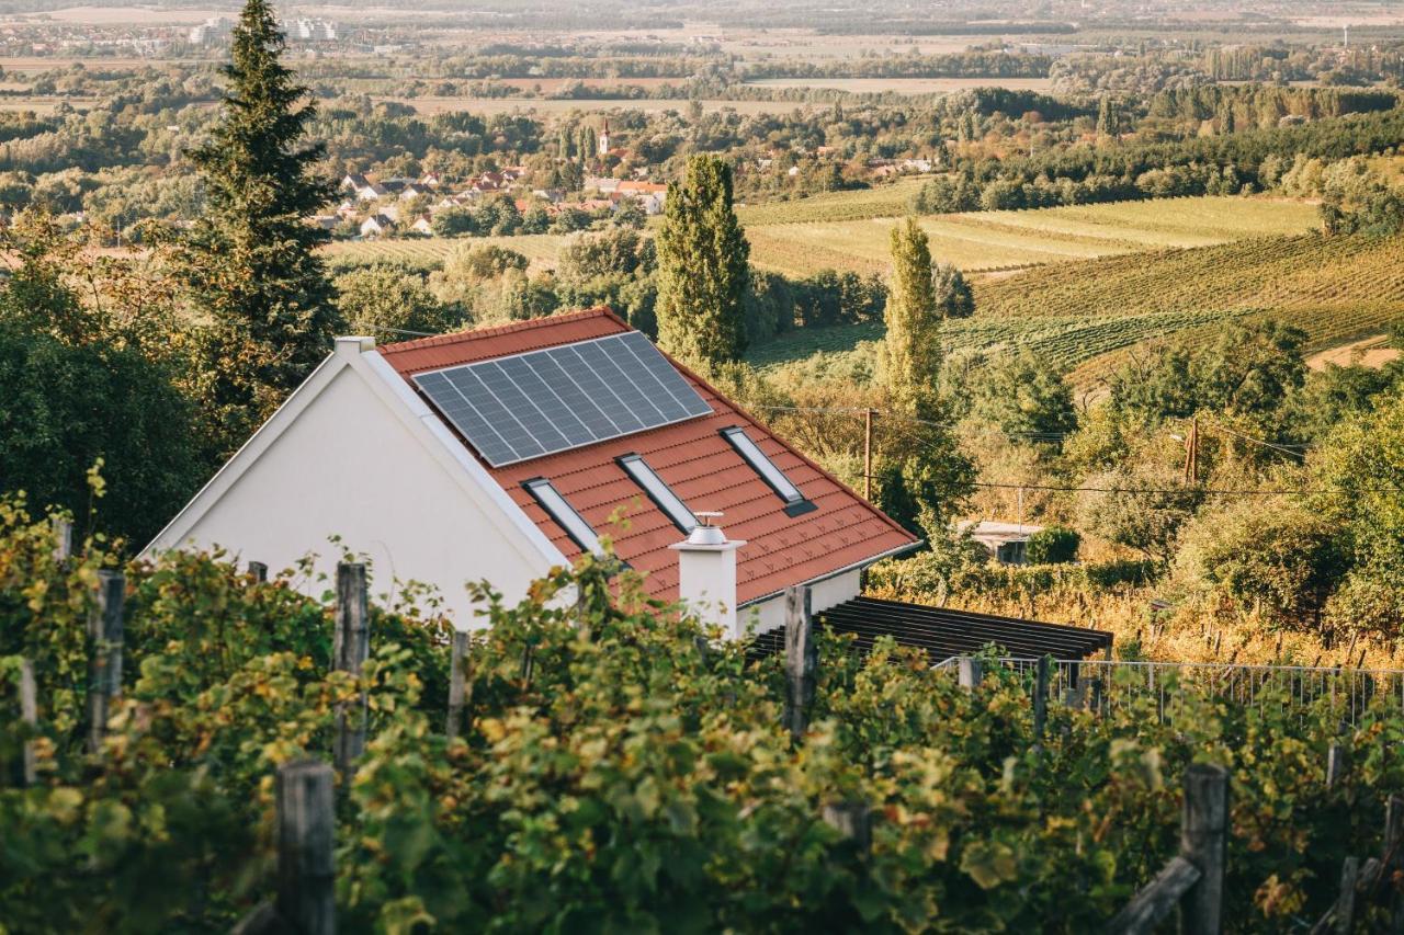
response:
<path id="1" fill-rule="evenodd" d="M 212 453 L 237 448 L 331 350 L 331 286 L 309 216 L 336 187 L 316 177 L 320 145 L 302 138 L 314 110 L 278 58 L 284 35 L 265 0 L 247 0 L 233 34 L 229 88 L 211 139 L 190 153 L 205 212 L 181 250 L 201 319 L 201 394 Z"/>

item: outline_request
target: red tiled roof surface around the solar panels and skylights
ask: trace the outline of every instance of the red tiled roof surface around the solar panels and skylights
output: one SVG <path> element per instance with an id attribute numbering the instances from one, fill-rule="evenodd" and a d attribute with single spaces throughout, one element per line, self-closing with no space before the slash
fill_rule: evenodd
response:
<path id="1" fill-rule="evenodd" d="M 560 344 L 619 334 L 629 326 L 608 309 L 588 309 L 501 327 L 389 344 L 380 354 L 413 387 L 424 371 L 522 354 Z M 647 591 L 663 599 L 678 597 L 677 553 L 668 549 L 682 533 L 615 463 L 637 453 L 694 511 L 717 510 L 731 539 L 746 541 L 737 553 L 737 601 L 746 604 L 792 584 L 803 584 L 917 542 L 906 529 L 869 505 L 828 472 L 775 438 L 762 423 L 743 413 L 699 376 L 671 361 L 702 394 L 713 413 L 673 425 L 614 438 L 583 448 L 491 468 L 508 496 L 567 557 L 580 548 L 522 487 L 546 477 L 601 535 L 612 535 L 615 552 L 646 571 Z M 416 390 L 417 392 L 417 390 Z M 446 424 L 446 423 L 445 423 Z M 783 501 L 722 438 L 740 425 L 816 505 L 795 518 Z M 449 425 L 452 428 L 452 425 Z M 472 445 L 468 446 L 473 451 Z M 621 512 L 628 529 L 609 526 Z"/>

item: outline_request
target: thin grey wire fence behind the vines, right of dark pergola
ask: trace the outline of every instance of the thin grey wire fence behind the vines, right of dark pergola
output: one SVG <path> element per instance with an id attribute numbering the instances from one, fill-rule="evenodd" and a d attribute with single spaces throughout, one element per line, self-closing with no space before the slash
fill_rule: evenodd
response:
<path id="1" fill-rule="evenodd" d="M 970 661 L 988 675 L 1004 674 L 1031 695 L 1038 691 L 1040 661 L 1032 658 L 952 657 L 936 671 L 956 677 Z M 1109 660 L 1046 660 L 1047 696 L 1098 712 L 1154 701 L 1163 722 L 1189 695 L 1219 698 L 1241 706 L 1289 705 L 1307 709 L 1330 703 L 1341 720 L 1355 724 L 1372 706 L 1404 710 L 1404 670 L 1328 668 L 1311 665 L 1240 665 L 1228 663 L 1143 663 Z"/>

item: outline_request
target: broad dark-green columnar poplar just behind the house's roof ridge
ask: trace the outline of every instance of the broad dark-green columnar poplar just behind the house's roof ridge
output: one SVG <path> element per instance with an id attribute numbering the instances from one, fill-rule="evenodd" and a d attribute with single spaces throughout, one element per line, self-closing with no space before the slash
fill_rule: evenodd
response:
<path id="1" fill-rule="evenodd" d="M 657 251 L 658 345 L 702 366 L 740 358 L 751 246 L 731 211 L 731 170 L 716 156 L 694 156 L 668 190 Z"/>

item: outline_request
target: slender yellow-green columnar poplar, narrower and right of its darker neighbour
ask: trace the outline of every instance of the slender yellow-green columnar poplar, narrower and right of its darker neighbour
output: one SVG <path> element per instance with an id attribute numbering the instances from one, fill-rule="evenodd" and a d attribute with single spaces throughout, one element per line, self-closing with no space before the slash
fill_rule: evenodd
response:
<path id="1" fill-rule="evenodd" d="M 931 247 L 915 218 L 892 230 L 892 282 L 882 378 L 894 411 L 929 418 L 941 373 L 941 307 L 931 275 Z"/>

